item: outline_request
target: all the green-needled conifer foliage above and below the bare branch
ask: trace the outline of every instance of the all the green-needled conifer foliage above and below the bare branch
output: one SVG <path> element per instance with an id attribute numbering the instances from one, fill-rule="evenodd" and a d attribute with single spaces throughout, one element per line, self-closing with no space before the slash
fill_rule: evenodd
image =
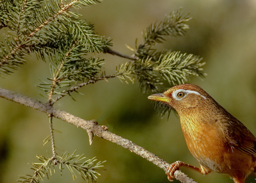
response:
<path id="1" fill-rule="evenodd" d="M 0 31 L 5 34 L 0 41 L 0 76 L 6 77 L 26 63 L 29 55 L 35 54 L 38 60 L 50 65 L 51 75 L 42 79 L 38 88 L 53 105 L 59 99 L 88 84 L 99 80 L 118 77 L 121 81 L 139 82 L 143 92 L 159 92 L 159 86 L 168 82 L 170 85 L 188 81 L 196 75 L 203 77 L 202 58 L 180 51 L 156 49 L 167 36 L 182 36 L 188 30 L 187 22 L 181 9 L 171 12 L 160 23 L 153 23 L 143 31 L 143 42 L 135 45 L 132 56 L 123 55 L 111 49 L 112 42 L 94 32 L 94 25 L 80 19 L 73 12 L 75 8 L 91 7 L 101 0 L 1 0 Z M 109 53 L 129 59 L 116 66 L 116 73 L 106 75 L 104 59 L 88 57 L 88 53 Z M 163 108 L 164 115 L 169 109 Z M 52 116 L 49 114 L 50 136 L 53 156 L 37 156 L 40 163 L 33 163 L 33 175 L 20 176 L 20 182 L 41 182 L 55 172 L 56 165 L 62 171 L 64 166 L 75 172 L 87 182 L 96 182 L 102 169 L 102 162 L 95 162 L 95 157 L 86 159 L 83 155 L 69 155 L 67 152 L 58 156 L 54 145 Z"/>

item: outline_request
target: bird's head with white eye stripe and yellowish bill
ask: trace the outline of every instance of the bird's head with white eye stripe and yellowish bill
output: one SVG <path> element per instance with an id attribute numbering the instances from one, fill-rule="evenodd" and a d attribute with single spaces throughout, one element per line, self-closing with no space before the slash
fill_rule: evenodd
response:
<path id="1" fill-rule="evenodd" d="M 148 99 L 168 104 L 178 113 L 206 105 L 211 98 L 202 88 L 194 84 L 179 84 L 167 91 L 148 96 Z"/>

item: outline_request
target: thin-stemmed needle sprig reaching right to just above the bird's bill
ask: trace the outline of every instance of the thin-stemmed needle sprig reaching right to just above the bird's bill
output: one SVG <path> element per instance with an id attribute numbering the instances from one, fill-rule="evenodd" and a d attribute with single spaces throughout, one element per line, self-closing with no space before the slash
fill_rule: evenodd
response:
<path id="1" fill-rule="evenodd" d="M 201 60 L 202 58 L 196 55 L 182 54 L 177 51 L 166 51 L 161 54 L 159 53 L 155 58 L 151 57 L 139 59 L 134 62 L 126 62 L 117 67 L 116 74 L 114 75 L 93 76 L 86 82 L 64 90 L 62 94 L 55 99 L 55 102 L 83 86 L 114 77 L 118 77 L 121 81 L 126 83 L 128 83 L 128 81 L 134 83 L 134 77 L 137 76 L 143 92 L 148 89 L 152 92 L 159 92 L 158 86 L 162 85 L 164 80 L 174 85 L 186 82 L 190 75 L 204 77 L 205 74 L 202 71 L 202 66 L 205 63 L 201 63 Z M 166 108 L 161 108 L 161 110 L 163 110 L 160 111 L 161 116 L 170 111 Z"/>

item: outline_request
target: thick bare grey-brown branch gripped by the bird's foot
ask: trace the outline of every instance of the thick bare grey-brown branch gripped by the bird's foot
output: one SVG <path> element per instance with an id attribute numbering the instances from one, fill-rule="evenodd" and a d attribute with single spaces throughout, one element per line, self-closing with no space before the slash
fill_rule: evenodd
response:
<path id="1" fill-rule="evenodd" d="M 148 152 L 143 147 L 140 147 L 123 137 L 120 137 L 112 132 L 109 132 L 106 126 L 98 125 L 97 122 L 94 122 L 94 120 L 87 121 L 82 118 L 78 118 L 70 113 L 53 108 L 47 103 L 42 103 L 40 101 L 28 98 L 26 96 L 14 93 L 10 90 L 3 89 L 3 88 L 0 88 L 0 97 L 19 103 L 19 104 L 23 104 L 33 109 L 37 109 L 43 113 L 51 114 L 55 118 L 59 118 L 77 127 L 83 128 L 84 130 L 87 131 L 89 135 L 90 144 L 92 143 L 93 135 L 97 135 L 98 137 L 104 138 L 126 149 L 129 149 L 131 152 L 134 152 L 139 156 L 147 159 L 148 161 L 157 165 L 164 171 L 166 171 L 168 169 L 168 166 L 170 166 L 170 164 L 168 164 L 166 161 L 164 161 L 163 159 L 160 159 L 153 153 Z M 193 179 L 187 177 L 183 172 L 178 170 L 174 172 L 174 176 L 177 180 L 183 183 L 196 183 Z"/>

